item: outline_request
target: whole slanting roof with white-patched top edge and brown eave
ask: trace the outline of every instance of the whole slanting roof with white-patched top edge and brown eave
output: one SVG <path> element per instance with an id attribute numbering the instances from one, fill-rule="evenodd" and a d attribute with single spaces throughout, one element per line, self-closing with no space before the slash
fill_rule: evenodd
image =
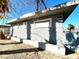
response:
<path id="1" fill-rule="evenodd" d="M 52 15 L 57 15 L 57 14 L 65 14 L 65 15 L 68 14 L 69 15 L 75 9 L 75 7 L 78 5 L 78 3 L 79 2 L 75 2 L 75 3 L 68 2 L 68 3 L 56 5 L 47 10 L 42 10 L 39 13 L 35 13 L 35 12 L 28 13 L 28 14 L 21 16 L 19 19 L 15 19 L 14 21 L 8 22 L 8 24 L 21 23 L 21 22 L 25 22 L 27 20 L 49 18 Z M 66 16 L 68 16 L 68 15 L 66 15 Z M 67 18 L 66 16 L 65 16 L 65 19 Z"/>

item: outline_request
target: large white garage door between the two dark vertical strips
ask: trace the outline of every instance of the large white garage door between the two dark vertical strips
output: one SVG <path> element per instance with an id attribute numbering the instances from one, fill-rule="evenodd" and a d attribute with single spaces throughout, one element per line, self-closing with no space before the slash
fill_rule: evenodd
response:
<path id="1" fill-rule="evenodd" d="M 38 21 L 31 24 L 31 40 L 45 42 L 48 39 L 49 21 Z"/>

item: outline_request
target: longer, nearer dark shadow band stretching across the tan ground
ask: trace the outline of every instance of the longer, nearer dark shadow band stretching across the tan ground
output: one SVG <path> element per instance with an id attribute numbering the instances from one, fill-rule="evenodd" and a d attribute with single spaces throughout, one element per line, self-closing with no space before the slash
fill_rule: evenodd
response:
<path id="1" fill-rule="evenodd" d="M 0 55 L 17 54 L 17 53 L 24 53 L 24 52 L 39 52 L 39 51 L 44 51 L 44 50 L 39 48 L 6 50 L 6 51 L 0 51 Z"/>

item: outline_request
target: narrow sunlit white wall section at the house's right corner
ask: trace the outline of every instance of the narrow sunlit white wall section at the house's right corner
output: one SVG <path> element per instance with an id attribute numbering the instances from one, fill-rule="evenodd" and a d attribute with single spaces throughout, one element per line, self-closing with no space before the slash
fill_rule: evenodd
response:
<path id="1" fill-rule="evenodd" d="M 63 42 L 65 40 L 63 29 L 63 14 L 56 17 L 56 40 L 57 45 L 63 46 Z"/>

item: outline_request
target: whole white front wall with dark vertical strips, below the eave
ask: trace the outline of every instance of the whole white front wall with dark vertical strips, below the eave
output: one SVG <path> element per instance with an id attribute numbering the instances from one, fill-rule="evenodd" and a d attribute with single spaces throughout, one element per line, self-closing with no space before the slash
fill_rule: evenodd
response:
<path id="1" fill-rule="evenodd" d="M 38 42 L 48 41 L 51 44 L 60 45 L 63 40 L 63 22 L 58 21 L 57 16 L 41 20 L 29 20 L 13 26 L 13 36 Z"/>

